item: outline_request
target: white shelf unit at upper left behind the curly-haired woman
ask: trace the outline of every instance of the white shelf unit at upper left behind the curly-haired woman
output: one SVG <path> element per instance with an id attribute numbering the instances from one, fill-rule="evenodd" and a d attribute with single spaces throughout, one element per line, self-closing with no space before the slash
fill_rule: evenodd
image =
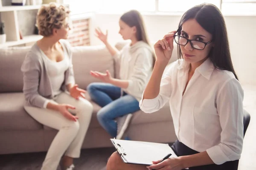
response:
<path id="1" fill-rule="evenodd" d="M 38 6 L 3 6 L 0 7 L 1 21 L 5 23 L 6 42 L 0 44 L 0 48 L 22 45 L 35 42 L 41 38 L 40 35 L 23 36 L 20 40 L 20 28 L 17 20 L 17 11 L 39 9 Z"/>

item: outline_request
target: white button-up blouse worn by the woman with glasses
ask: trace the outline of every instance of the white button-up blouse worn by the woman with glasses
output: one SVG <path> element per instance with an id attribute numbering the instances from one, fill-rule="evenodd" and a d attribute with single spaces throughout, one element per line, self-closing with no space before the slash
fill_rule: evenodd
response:
<path id="1" fill-rule="evenodd" d="M 207 151 L 215 164 L 240 159 L 243 146 L 243 97 L 239 81 L 230 71 L 214 68 L 208 58 L 190 79 L 190 64 L 176 61 L 166 71 L 160 94 L 142 99 L 140 109 L 158 111 L 169 101 L 180 142 L 198 152 Z"/>

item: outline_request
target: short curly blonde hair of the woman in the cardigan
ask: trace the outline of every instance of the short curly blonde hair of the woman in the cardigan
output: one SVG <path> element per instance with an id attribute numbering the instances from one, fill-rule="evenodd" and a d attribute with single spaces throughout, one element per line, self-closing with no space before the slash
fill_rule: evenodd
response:
<path id="1" fill-rule="evenodd" d="M 48 37 L 52 35 L 53 28 L 60 29 L 65 26 L 66 18 L 69 17 L 70 10 L 57 3 L 49 3 L 38 10 L 36 26 L 39 34 Z"/>

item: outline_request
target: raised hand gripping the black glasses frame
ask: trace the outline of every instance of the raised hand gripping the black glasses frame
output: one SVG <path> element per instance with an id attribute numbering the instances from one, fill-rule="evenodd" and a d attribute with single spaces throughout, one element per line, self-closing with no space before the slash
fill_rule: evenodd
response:
<path id="1" fill-rule="evenodd" d="M 163 39 L 158 40 L 154 44 L 154 50 L 157 56 L 158 62 L 168 63 L 170 58 L 172 57 L 173 51 L 173 40 L 176 31 L 169 32 L 166 34 Z"/>

